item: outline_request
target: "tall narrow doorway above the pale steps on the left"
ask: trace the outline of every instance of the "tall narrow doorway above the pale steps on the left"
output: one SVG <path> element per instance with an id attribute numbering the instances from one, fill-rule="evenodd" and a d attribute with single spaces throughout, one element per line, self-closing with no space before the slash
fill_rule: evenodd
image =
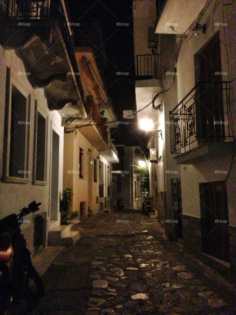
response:
<path id="1" fill-rule="evenodd" d="M 50 220 L 58 220 L 59 208 L 59 145 L 60 136 L 52 129 L 52 145 L 51 145 L 51 187 L 50 187 Z"/>

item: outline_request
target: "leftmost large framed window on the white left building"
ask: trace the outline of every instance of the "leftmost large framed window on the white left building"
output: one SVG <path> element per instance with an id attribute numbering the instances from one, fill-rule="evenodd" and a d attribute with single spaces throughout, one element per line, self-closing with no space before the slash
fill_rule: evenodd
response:
<path id="1" fill-rule="evenodd" d="M 16 84 L 17 85 L 17 84 Z M 28 182 L 28 144 L 30 130 L 30 95 L 11 84 L 10 69 L 6 78 L 3 179 Z"/>

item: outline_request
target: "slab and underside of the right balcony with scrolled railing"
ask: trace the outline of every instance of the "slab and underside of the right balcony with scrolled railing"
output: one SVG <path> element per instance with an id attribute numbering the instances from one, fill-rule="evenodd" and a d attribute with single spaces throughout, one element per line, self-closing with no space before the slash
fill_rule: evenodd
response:
<path id="1" fill-rule="evenodd" d="M 236 143 L 234 141 L 221 141 L 204 143 L 192 150 L 173 157 L 177 164 L 198 164 L 209 162 L 213 158 L 233 154 Z"/>

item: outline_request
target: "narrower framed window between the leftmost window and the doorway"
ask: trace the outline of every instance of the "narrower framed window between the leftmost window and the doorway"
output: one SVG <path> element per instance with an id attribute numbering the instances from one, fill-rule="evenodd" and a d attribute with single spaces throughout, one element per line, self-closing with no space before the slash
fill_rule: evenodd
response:
<path id="1" fill-rule="evenodd" d="M 37 101 L 35 101 L 37 107 Z M 35 110 L 34 184 L 46 185 L 46 119 Z"/>

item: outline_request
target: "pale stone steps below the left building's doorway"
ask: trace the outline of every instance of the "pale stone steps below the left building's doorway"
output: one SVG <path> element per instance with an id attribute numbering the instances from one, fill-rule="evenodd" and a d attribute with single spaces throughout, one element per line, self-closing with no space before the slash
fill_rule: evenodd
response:
<path id="1" fill-rule="evenodd" d="M 80 238 L 79 231 L 71 231 L 71 224 L 60 225 L 48 232 L 48 246 L 74 245 Z"/>

